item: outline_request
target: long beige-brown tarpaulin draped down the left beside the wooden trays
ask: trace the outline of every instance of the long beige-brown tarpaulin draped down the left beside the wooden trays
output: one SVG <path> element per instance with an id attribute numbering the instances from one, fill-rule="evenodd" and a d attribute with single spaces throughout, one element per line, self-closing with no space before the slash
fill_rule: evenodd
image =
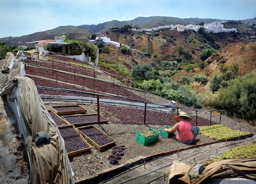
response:
<path id="1" fill-rule="evenodd" d="M 35 83 L 28 77 L 17 79 L 20 112 L 32 136 L 28 149 L 32 154 L 33 183 L 74 183 L 64 140 L 38 95 Z M 38 132 L 47 132 L 50 143 L 36 146 Z"/>

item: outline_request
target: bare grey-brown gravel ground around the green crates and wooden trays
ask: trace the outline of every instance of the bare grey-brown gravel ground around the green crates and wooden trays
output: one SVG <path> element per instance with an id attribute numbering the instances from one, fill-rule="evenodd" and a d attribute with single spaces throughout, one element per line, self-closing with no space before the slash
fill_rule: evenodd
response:
<path id="1" fill-rule="evenodd" d="M 144 95 L 144 94 L 143 94 Z M 152 102 L 157 104 L 165 104 L 165 99 L 154 96 L 149 96 L 148 98 Z M 88 109 L 87 112 L 95 113 L 96 107 L 93 105 L 86 106 Z M 90 109 L 90 110 L 89 110 Z M 94 111 L 94 112 L 93 112 Z M 190 115 L 193 115 L 195 112 L 187 111 Z M 101 115 L 107 117 L 109 122 L 106 124 L 95 125 L 95 127 L 102 130 L 107 135 L 111 136 L 114 140 L 116 140 L 116 146 L 125 146 L 124 156 L 119 159 L 118 163 L 115 165 L 109 164 L 108 157 L 111 155 L 112 149 L 106 149 L 104 151 L 99 151 L 94 146 L 92 146 L 90 153 L 84 153 L 76 156 L 70 157 L 70 164 L 75 173 L 75 180 L 79 180 L 83 177 L 88 177 L 96 175 L 98 172 L 109 169 L 111 167 L 116 167 L 116 165 L 124 164 L 129 159 L 134 159 L 139 156 L 150 156 L 156 153 L 162 153 L 164 151 L 171 151 L 174 149 L 186 148 L 186 144 L 178 143 L 174 138 L 162 138 L 159 136 L 158 141 L 148 146 L 143 146 L 142 144 L 135 141 L 135 134 L 137 131 L 148 130 L 148 128 L 153 128 L 155 130 L 159 130 L 160 128 L 164 128 L 163 124 L 161 125 L 137 125 L 137 124 L 126 124 L 121 123 L 118 118 L 118 112 L 108 112 L 107 109 L 101 108 Z M 123 114 L 122 114 L 123 115 Z M 210 113 L 205 111 L 198 112 L 198 116 L 203 119 L 210 120 Z M 132 118 L 132 117 L 131 117 Z M 212 122 L 220 122 L 220 114 L 212 113 L 211 114 Z M 221 123 L 227 125 L 236 130 L 241 131 L 250 131 L 255 133 L 255 128 L 252 128 L 248 125 L 244 125 L 242 122 L 237 120 L 229 119 L 226 115 L 221 115 Z M 207 138 L 202 135 L 197 136 L 198 142 L 196 144 L 210 143 L 214 140 L 211 138 Z"/>

